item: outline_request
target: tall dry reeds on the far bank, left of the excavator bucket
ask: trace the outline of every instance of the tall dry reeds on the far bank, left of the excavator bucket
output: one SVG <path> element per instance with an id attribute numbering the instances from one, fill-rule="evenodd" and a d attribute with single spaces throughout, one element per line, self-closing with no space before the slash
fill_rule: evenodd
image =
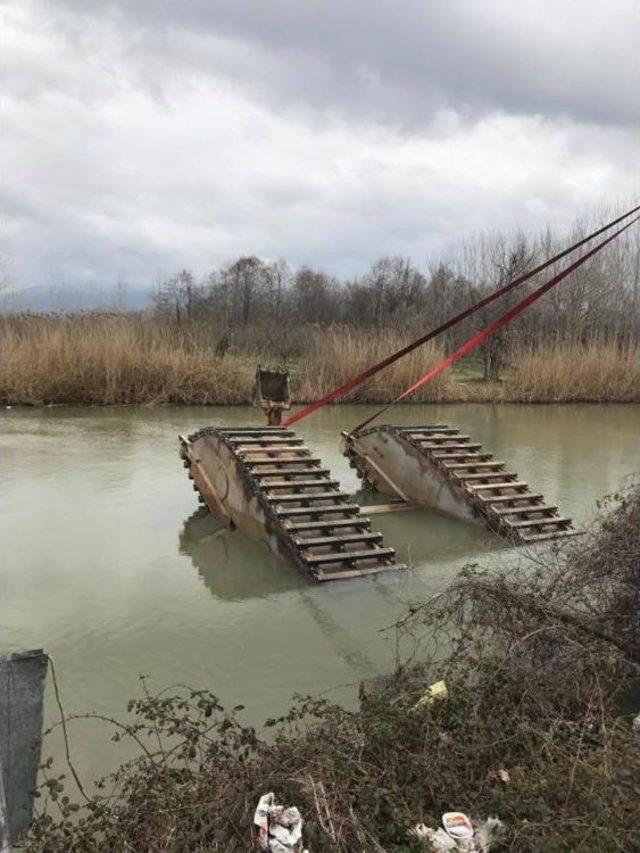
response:
<path id="1" fill-rule="evenodd" d="M 0 353 L 12 404 L 244 403 L 255 369 L 117 314 L 4 320 Z"/>

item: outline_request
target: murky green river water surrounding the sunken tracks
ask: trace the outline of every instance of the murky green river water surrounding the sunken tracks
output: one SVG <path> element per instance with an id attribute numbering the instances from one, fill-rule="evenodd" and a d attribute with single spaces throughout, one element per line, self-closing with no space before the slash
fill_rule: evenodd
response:
<path id="1" fill-rule="evenodd" d="M 325 409 L 299 429 L 347 491 L 359 481 L 338 435 L 367 410 Z M 637 406 L 411 406 L 393 418 L 461 427 L 578 523 L 640 467 Z M 192 517 L 177 435 L 211 423 L 261 418 L 239 408 L 2 413 L 0 653 L 52 654 L 68 712 L 123 716 L 142 672 L 152 687 L 180 682 L 243 702 L 252 722 L 294 692 L 350 701 L 392 659 L 380 629 L 404 602 L 467 561 L 505 554 L 492 535 L 436 513 L 375 516 L 413 571 L 313 585 L 241 533 L 213 537 L 208 518 Z M 52 719 L 50 694 L 47 704 Z M 95 723 L 74 724 L 72 743 L 86 777 L 122 757 Z"/>

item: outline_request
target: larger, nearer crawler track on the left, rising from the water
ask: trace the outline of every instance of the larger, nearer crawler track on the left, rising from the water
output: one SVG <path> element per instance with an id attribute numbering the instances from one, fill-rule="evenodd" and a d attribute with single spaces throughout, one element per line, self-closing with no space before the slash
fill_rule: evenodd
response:
<path id="1" fill-rule="evenodd" d="M 239 479 L 248 501 L 255 499 L 270 541 L 314 580 L 406 568 L 396 562 L 395 551 L 384 545 L 382 534 L 371 530 L 360 506 L 341 491 L 329 469 L 292 430 L 210 427 L 182 439 L 182 457 L 203 502 L 214 514 L 222 506 L 242 526 L 225 499 L 214 496 L 216 503 L 207 493 L 210 482 L 198 473 L 198 466 L 204 465 L 199 458 L 203 443 L 217 457 L 228 458 L 229 469 L 235 466 L 227 475 Z M 223 448 L 228 453 L 222 454 Z"/>

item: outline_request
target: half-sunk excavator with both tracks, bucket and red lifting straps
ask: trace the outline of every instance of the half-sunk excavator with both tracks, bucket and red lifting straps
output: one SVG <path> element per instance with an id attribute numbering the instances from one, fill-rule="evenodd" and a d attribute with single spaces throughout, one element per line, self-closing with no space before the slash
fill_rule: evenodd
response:
<path id="1" fill-rule="evenodd" d="M 264 542 L 273 553 L 291 560 L 316 581 L 407 568 L 397 561 L 382 534 L 371 529 L 370 516 L 381 512 L 416 506 L 437 509 L 482 525 L 514 545 L 576 535 L 571 519 L 530 489 L 506 462 L 495 459 L 457 427 L 442 423 L 371 424 L 509 323 L 640 217 L 538 285 L 375 415 L 343 432 L 344 455 L 366 484 L 388 498 L 387 503 L 362 507 L 355 502 L 291 426 L 638 210 L 640 206 L 549 258 L 284 422 L 283 413 L 291 408 L 289 375 L 258 367 L 254 405 L 265 412 L 266 426 L 205 427 L 188 437 L 180 436 L 181 456 L 200 500 L 221 522 Z"/>

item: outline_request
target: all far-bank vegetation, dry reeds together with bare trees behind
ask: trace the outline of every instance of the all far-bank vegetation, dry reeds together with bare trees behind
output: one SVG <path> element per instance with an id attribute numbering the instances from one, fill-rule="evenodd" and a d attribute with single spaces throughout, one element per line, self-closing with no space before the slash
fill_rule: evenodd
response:
<path id="1" fill-rule="evenodd" d="M 611 211 L 602 212 L 602 220 Z M 594 222 L 576 223 L 567 243 Z M 640 398 L 640 231 L 591 258 L 414 400 Z M 563 245 L 553 234 L 480 236 L 419 268 L 382 258 L 338 280 L 282 260 L 239 258 L 198 279 L 160 281 L 153 308 L 0 318 L 5 404 L 235 404 L 258 362 L 285 365 L 308 402 L 531 269 Z M 559 267 L 557 267 L 559 269 Z M 366 383 L 349 399 L 388 400 L 557 269 L 485 307 Z"/>

